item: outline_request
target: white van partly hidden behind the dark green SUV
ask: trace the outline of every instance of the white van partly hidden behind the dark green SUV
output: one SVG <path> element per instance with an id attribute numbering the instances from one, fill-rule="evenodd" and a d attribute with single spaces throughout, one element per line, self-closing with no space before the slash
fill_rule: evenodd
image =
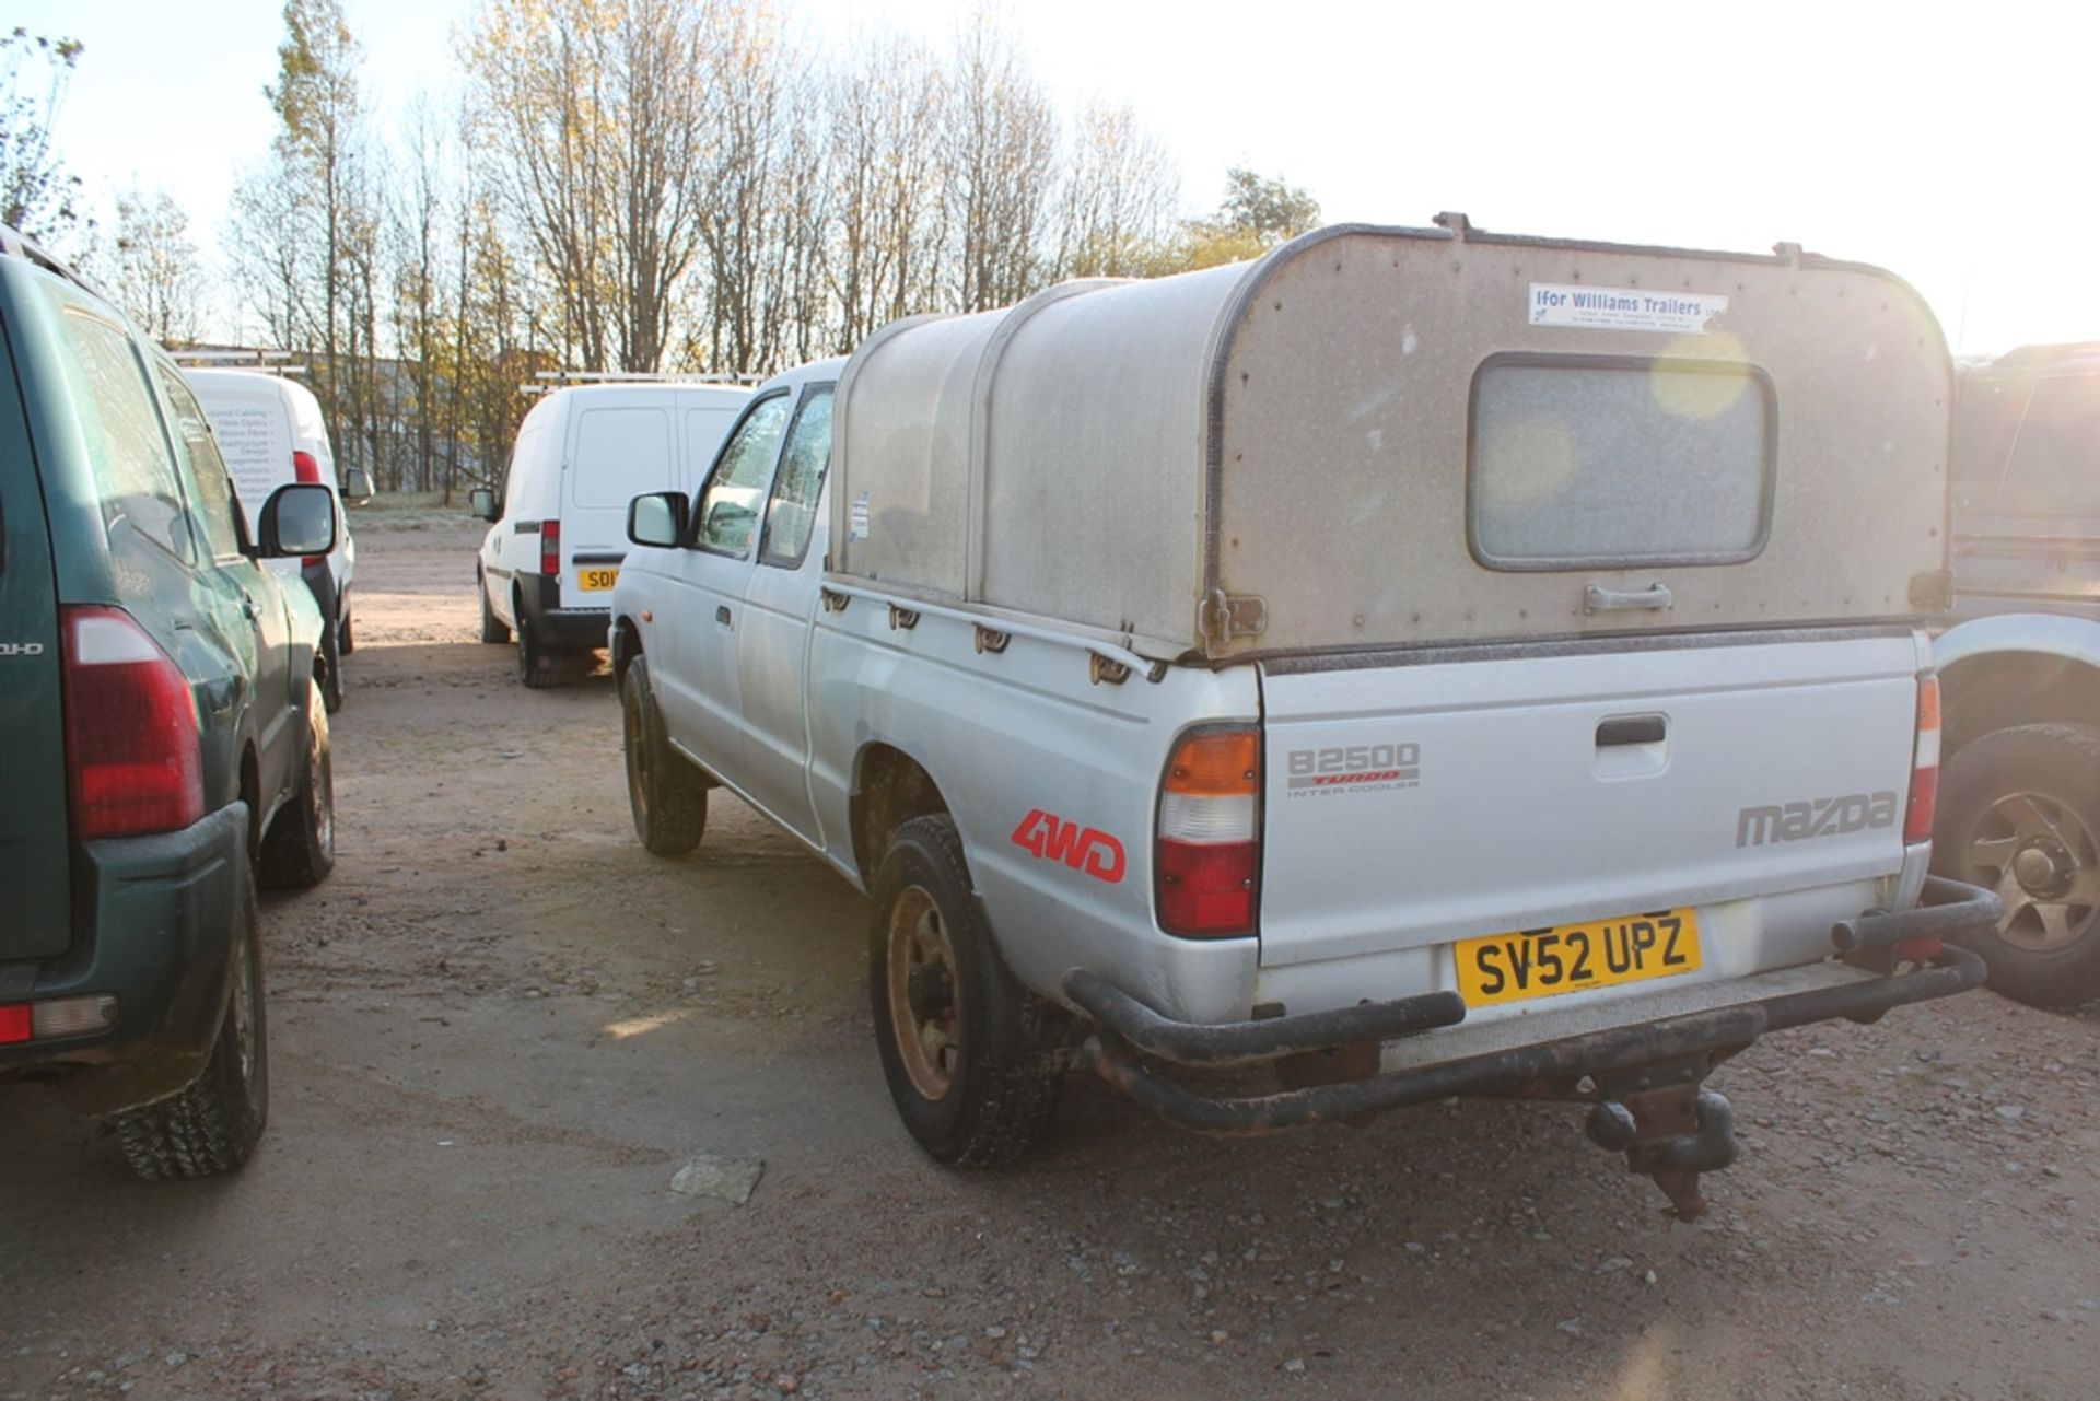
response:
<path id="1" fill-rule="evenodd" d="M 357 542 L 342 513 L 342 496 L 355 502 L 372 498 L 372 475 L 351 468 L 346 489 L 336 483 L 336 449 L 328 441 L 321 401 L 296 380 L 260 370 L 183 370 L 204 414 L 212 420 L 218 452 L 233 473 L 233 489 L 248 517 L 248 538 L 256 538 L 256 513 L 271 492 L 288 481 L 317 481 L 336 494 L 336 548 L 309 555 L 302 561 L 275 559 L 271 569 L 286 578 L 304 578 L 321 618 L 328 664 L 321 693 L 328 710 L 342 708 L 342 657 L 355 643 L 351 632 L 351 582 L 357 578 Z"/>

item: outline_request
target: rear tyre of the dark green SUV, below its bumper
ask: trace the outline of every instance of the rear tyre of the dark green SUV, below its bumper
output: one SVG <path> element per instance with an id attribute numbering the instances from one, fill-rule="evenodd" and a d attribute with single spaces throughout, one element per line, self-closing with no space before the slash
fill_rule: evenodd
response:
<path id="1" fill-rule="evenodd" d="M 269 1038 L 262 1015 L 262 954 L 256 897 L 242 867 L 233 930 L 233 996 L 212 1054 L 187 1090 L 118 1117 L 118 1143 L 143 1178 L 233 1172 L 254 1153 L 269 1122 Z"/>

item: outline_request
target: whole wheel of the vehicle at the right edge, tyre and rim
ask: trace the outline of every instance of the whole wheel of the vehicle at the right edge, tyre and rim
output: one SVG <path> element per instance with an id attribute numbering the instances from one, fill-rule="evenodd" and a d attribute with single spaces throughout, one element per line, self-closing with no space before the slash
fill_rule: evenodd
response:
<path id="1" fill-rule="evenodd" d="M 2026 1006 L 2100 998 L 2100 729 L 2020 725 L 1947 762 L 1932 867 L 1997 891 L 1997 928 L 1966 943 Z"/>

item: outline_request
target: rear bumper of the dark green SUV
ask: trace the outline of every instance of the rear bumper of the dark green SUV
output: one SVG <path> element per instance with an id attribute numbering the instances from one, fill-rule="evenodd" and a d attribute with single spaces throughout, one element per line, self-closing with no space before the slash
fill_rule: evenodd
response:
<path id="1" fill-rule="evenodd" d="M 0 1046 L 0 1078 L 59 1075 L 76 1109 L 116 1113 L 174 1094 L 204 1069 L 225 1017 L 248 809 L 183 832 L 80 846 L 74 947 L 0 968 L 0 1002 L 116 998 L 103 1031 Z"/>

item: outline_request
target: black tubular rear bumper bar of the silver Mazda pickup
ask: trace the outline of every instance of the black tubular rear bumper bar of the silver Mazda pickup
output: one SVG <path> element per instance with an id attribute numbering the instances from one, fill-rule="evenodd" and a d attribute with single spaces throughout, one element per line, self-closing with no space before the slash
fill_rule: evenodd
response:
<path id="1" fill-rule="evenodd" d="M 2003 909 L 1989 891 L 1942 878 L 1926 882 L 1924 899 L 1932 903 L 1894 914 L 1869 912 L 1856 920 L 1840 922 L 1831 930 L 1833 947 L 1850 954 L 1890 947 L 1898 941 L 1987 928 L 1997 922 Z M 1560 1086 L 1560 1094 L 1567 1094 L 1567 1086 L 1583 1075 L 1604 1080 L 1659 1061 L 1703 1054 L 1718 1061 L 1743 1050 L 1766 1031 L 1785 1031 L 1838 1017 L 1873 1021 L 1892 1006 L 1949 998 L 1982 987 L 1982 981 L 1980 958 L 1964 947 L 1945 945 L 1930 949 L 1922 966 L 1911 973 L 1781 994 L 1709 1012 L 1592 1031 L 1443 1065 L 1420 1065 L 1369 1080 L 1241 1099 L 1216 1099 L 1189 1090 L 1149 1061 L 1199 1067 L 1250 1065 L 1325 1046 L 1392 1040 L 1464 1021 L 1464 1002 L 1455 994 L 1441 991 L 1331 1012 L 1203 1027 L 1168 1021 L 1086 968 L 1073 968 L 1065 975 L 1065 996 L 1100 1023 L 1100 1033 L 1088 1038 L 1084 1050 L 1094 1071 L 1138 1105 L 1170 1124 L 1197 1132 L 1264 1134 L 1325 1124 L 1327 1120 L 1352 1120 L 1453 1094 L 1520 1094 L 1541 1086 Z M 1703 1069 L 1699 1073 L 1703 1075 Z"/>

